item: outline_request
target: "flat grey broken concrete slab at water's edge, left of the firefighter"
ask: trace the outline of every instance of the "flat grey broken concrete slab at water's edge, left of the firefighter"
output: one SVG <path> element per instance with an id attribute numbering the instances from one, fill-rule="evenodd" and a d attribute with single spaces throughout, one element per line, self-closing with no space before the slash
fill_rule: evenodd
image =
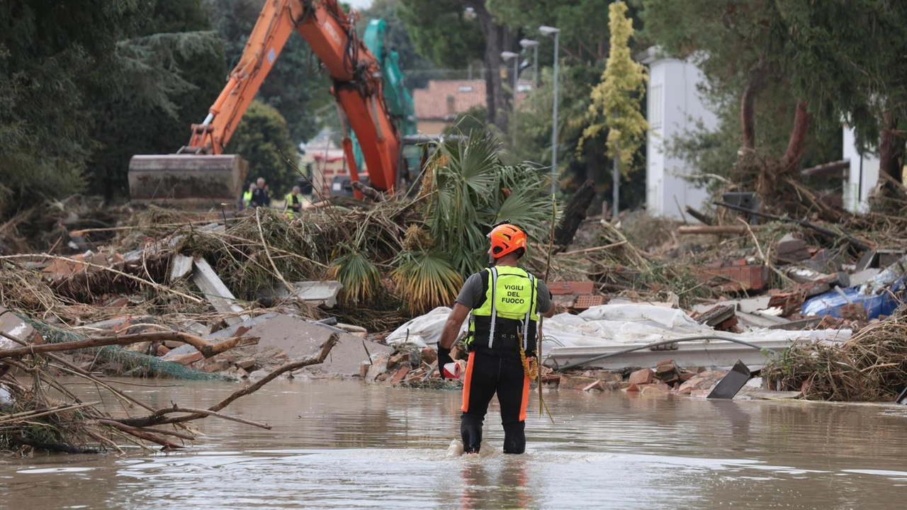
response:
<path id="1" fill-rule="evenodd" d="M 261 338 L 258 342 L 258 351 L 268 348 L 281 348 L 287 352 L 290 359 L 305 358 L 317 353 L 318 348 L 327 341 L 331 331 L 315 324 L 309 324 L 305 319 L 288 315 L 262 321 L 249 329 L 249 336 Z M 331 349 L 331 353 L 324 363 L 307 369 L 313 372 L 324 372 L 344 376 L 357 376 L 362 361 L 369 358 L 389 356 L 391 348 L 354 337 L 344 333 L 338 334 L 339 341 Z M 365 347 L 363 343 L 365 342 Z M 366 348 L 368 354 L 366 354 Z"/>

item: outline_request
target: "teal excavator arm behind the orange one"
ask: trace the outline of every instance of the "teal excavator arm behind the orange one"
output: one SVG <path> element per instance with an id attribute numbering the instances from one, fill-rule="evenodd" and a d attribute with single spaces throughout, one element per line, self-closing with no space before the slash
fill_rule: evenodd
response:
<path id="1" fill-rule="evenodd" d="M 395 51 L 390 51 L 385 46 L 386 29 L 385 20 L 373 19 L 366 26 L 363 42 L 365 42 L 368 50 L 375 55 L 378 61 L 378 67 L 381 69 L 382 78 L 385 82 L 384 93 L 387 112 L 390 113 L 391 122 L 394 123 L 397 132 L 400 133 L 401 139 L 403 139 L 404 136 L 416 133 L 415 107 L 413 97 L 406 90 L 405 77 L 403 71 L 400 70 L 400 57 Z M 359 145 L 359 141 L 356 140 L 356 134 L 352 133 L 351 137 L 353 139 L 353 157 L 356 159 L 356 168 L 362 169 L 365 160 L 362 148 Z M 418 164 L 419 159 L 413 159 L 414 161 L 412 162 L 407 161 L 407 166 L 412 168 Z"/>

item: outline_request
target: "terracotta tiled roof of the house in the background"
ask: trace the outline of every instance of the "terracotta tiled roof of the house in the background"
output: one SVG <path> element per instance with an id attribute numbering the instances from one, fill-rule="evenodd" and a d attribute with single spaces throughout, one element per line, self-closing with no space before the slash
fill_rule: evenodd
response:
<path id="1" fill-rule="evenodd" d="M 531 85 L 521 80 L 521 88 Z M 522 99 L 525 93 L 520 93 Z M 430 80 L 428 88 L 413 91 L 415 118 L 419 120 L 452 121 L 459 113 L 473 106 L 485 106 L 484 80 Z"/>

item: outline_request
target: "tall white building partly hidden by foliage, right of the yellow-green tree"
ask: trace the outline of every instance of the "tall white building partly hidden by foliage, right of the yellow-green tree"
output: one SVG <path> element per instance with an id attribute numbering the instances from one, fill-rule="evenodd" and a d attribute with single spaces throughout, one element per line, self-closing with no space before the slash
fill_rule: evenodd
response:
<path id="1" fill-rule="evenodd" d="M 666 153 L 665 142 L 695 130 L 697 123 L 715 129 L 717 117 L 697 91 L 697 84 L 704 79 L 695 64 L 662 58 L 657 48 L 649 48 L 639 61 L 649 66 L 646 207 L 653 215 L 679 220 L 688 205 L 701 211 L 708 193 L 684 179 L 693 169 L 688 162 Z"/>

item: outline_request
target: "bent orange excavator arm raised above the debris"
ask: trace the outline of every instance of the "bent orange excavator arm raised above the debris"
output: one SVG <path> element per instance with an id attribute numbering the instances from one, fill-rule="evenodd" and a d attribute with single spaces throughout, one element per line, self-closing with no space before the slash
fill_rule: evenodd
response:
<path id="1" fill-rule="evenodd" d="M 375 55 L 356 35 L 356 11 L 336 0 L 268 0 L 258 15 L 239 64 L 180 153 L 221 154 L 258 93 L 290 35 L 301 34 L 334 81 L 332 93 L 349 128 L 356 132 L 372 186 L 393 191 L 400 139 L 388 113 Z M 345 130 L 346 131 L 346 130 Z M 348 132 L 344 136 L 350 176 L 358 181 Z"/>

